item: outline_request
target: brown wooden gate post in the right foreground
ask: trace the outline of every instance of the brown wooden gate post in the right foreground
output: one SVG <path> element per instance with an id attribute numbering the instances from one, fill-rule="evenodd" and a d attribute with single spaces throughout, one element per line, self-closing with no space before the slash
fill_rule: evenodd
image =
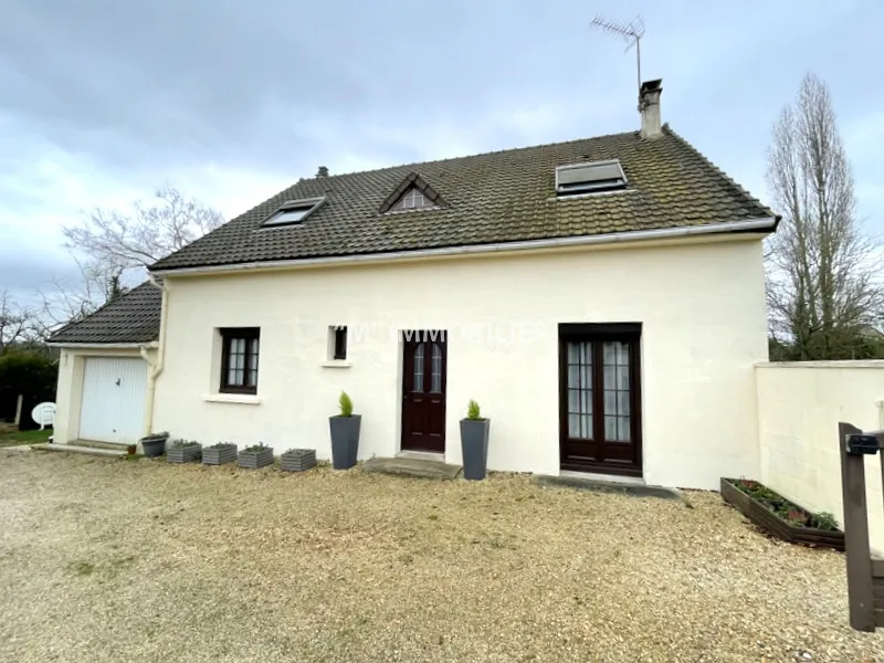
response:
<path id="1" fill-rule="evenodd" d="M 865 456 L 849 455 L 848 435 L 862 431 L 850 423 L 838 424 L 841 452 L 841 487 L 844 501 L 844 546 L 848 556 L 850 625 L 875 630 L 875 597 L 872 590 L 872 554 L 869 549 L 869 511 L 865 504 Z"/>

